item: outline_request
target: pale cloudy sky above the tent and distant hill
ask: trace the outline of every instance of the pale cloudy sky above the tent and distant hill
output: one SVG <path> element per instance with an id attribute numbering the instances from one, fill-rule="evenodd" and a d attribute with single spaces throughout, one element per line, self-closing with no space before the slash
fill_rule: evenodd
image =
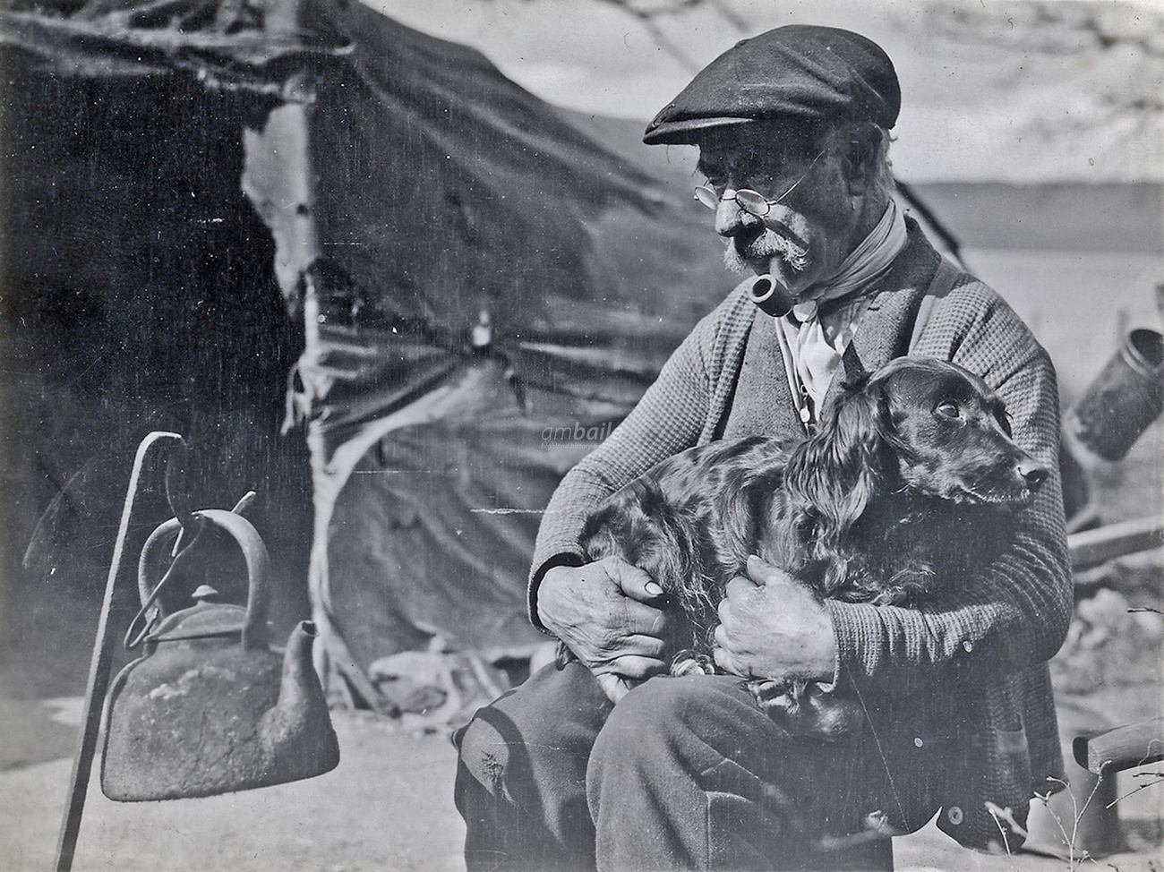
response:
<path id="1" fill-rule="evenodd" d="M 474 45 L 545 100 L 644 122 L 744 36 L 846 27 L 896 65 L 902 178 L 1164 179 L 1164 0 L 708 0 L 655 31 L 602 0 L 364 2 Z"/>

